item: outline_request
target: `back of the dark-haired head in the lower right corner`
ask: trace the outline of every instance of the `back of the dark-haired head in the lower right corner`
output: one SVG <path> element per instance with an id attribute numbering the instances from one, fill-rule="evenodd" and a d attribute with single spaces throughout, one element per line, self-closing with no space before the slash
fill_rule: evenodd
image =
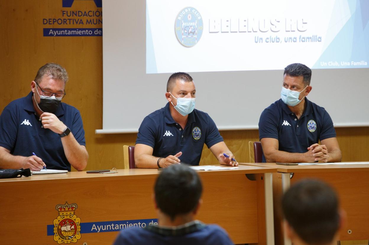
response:
<path id="1" fill-rule="evenodd" d="M 338 198 L 324 182 L 305 179 L 282 197 L 282 213 L 299 238 L 307 244 L 330 244 L 338 231 Z"/>

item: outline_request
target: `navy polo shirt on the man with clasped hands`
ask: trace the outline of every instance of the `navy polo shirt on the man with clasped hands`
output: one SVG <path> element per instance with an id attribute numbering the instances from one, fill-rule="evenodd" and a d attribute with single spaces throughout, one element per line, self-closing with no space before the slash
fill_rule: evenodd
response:
<path id="1" fill-rule="evenodd" d="M 297 119 L 282 99 L 271 104 L 261 113 L 259 139 L 277 139 L 280 151 L 305 153 L 307 147 L 319 140 L 336 137 L 328 112 L 306 97 L 305 103 L 305 111 L 300 119 Z M 263 162 L 266 162 L 264 155 Z"/>

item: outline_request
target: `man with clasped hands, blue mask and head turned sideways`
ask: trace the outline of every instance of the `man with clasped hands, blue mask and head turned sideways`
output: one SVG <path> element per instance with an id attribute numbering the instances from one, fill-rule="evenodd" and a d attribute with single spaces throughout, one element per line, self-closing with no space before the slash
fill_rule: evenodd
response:
<path id="1" fill-rule="evenodd" d="M 310 79 L 311 70 L 303 64 L 284 69 L 281 99 L 259 120 L 263 162 L 341 161 L 331 117 L 306 98 L 312 89 Z"/>

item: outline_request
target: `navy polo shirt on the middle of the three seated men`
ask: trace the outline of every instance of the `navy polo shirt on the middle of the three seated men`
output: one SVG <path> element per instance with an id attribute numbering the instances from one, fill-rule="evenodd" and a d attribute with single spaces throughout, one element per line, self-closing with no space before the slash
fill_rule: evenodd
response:
<path id="1" fill-rule="evenodd" d="M 136 144 L 151 146 L 156 157 L 168 157 L 182 151 L 182 163 L 199 165 L 204 143 L 208 148 L 223 141 L 213 119 L 202 111 L 194 109 L 188 115 L 184 129 L 174 121 L 165 107 L 146 116 L 138 129 Z"/>

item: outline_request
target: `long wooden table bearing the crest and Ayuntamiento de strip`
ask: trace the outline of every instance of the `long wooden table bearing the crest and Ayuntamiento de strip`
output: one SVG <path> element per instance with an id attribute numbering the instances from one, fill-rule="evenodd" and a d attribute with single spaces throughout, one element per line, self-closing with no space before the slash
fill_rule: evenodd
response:
<path id="1" fill-rule="evenodd" d="M 274 244 L 276 171 L 259 166 L 199 171 L 204 191 L 196 218 L 220 225 L 236 244 Z M 118 169 L 117 174 L 84 171 L 1 179 L 0 244 L 58 244 L 72 238 L 76 244 L 112 244 L 120 228 L 156 222 L 152 193 L 158 173 Z M 63 210 L 66 202 L 72 206 Z M 73 225 L 80 234 L 73 233 Z"/>

